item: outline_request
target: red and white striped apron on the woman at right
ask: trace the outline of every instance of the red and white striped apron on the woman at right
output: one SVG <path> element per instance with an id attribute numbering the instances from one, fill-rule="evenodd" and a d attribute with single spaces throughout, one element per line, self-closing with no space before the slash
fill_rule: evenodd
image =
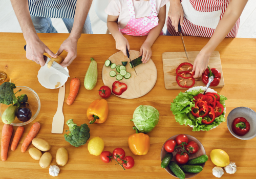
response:
<path id="1" fill-rule="evenodd" d="M 180 0 L 184 12 L 182 27 L 183 36 L 211 37 L 222 18 L 230 0 Z M 236 37 L 240 20 L 226 37 Z M 171 35 L 179 36 L 172 26 L 172 20 L 167 19 L 167 30 Z"/>

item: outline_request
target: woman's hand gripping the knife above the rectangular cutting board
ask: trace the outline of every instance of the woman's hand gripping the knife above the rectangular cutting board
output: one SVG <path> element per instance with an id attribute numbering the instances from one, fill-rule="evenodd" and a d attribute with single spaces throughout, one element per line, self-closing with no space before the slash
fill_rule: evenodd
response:
<path id="1" fill-rule="evenodd" d="M 170 7 L 168 16 L 172 20 L 172 25 L 174 26 L 176 32 L 178 32 L 178 25 L 180 21 L 180 26 L 183 26 L 183 8 L 181 6 L 180 0 L 170 0 Z"/>

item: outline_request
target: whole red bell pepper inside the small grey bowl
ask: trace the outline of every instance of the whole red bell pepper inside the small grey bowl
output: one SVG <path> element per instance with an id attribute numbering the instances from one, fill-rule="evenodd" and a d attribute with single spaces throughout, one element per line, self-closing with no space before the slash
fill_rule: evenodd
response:
<path id="1" fill-rule="evenodd" d="M 245 118 L 236 118 L 232 122 L 232 130 L 238 136 L 244 136 L 250 130 L 250 123 Z"/>

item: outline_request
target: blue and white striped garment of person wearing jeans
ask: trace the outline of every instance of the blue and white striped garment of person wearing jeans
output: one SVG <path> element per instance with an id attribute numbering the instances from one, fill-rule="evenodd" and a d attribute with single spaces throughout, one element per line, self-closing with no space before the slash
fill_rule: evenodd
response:
<path id="1" fill-rule="evenodd" d="M 75 18 L 76 0 L 28 0 L 30 15 Z"/>

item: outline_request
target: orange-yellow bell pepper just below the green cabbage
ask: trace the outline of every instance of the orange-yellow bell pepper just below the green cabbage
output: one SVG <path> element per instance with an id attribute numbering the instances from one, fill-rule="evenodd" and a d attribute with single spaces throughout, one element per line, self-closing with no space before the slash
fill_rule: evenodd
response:
<path id="1" fill-rule="evenodd" d="M 137 127 L 133 127 L 136 133 L 128 138 L 128 144 L 130 150 L 135 155 L 145 155 L 150 149 L 150 137 L 144 133 L 139 133 Z"/>

